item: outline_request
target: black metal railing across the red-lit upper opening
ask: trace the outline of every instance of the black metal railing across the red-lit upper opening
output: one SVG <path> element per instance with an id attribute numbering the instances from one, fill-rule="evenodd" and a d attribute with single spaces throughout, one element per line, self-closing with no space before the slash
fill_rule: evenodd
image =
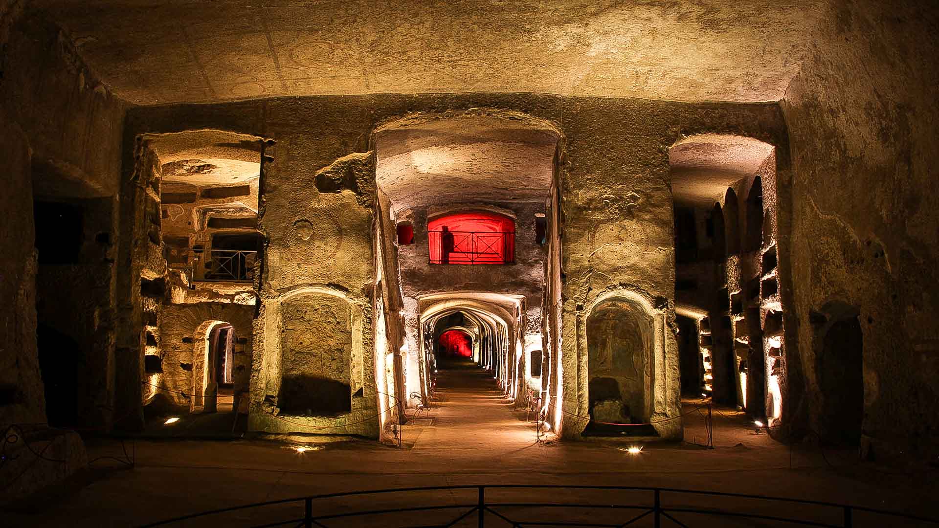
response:
<path id="1" fill-rule="evenodd" d="M 511 264 L 514 231 L 428 231 L 431 264 Z"/>

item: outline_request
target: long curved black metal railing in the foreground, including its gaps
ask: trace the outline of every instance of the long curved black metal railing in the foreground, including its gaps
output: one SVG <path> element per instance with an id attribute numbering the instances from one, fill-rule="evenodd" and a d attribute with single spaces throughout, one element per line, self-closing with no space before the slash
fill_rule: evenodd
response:
<path id="1" fill-rule="evenodd" d="M 443 491 L 440 493 L 440 491 Z M 531 501 L 532 492 L 539 500 Z M 435 495 L 436 493 L 436 495 Z M 421 495 L 419 495 L 421 494 Z M 448 504 L 408 505 L 438 497 Z M 541 500 L 550 499 L 550 500 Z M 590 499 L 590 500 L 588 500 Z M 632 499 L 637 501 L 630 503 Z M 300 515 L 300 505 L 302 514 Z M 267 508 L 265 511 L 260 511 Z M 233 514 L 237 520 L 224 518 Z M 215 509 L 150 526 L 932 526 L 939 520 L 864 506 L 744 493 L 620 486 L 436 486 L 327 493 Z M 197 524 L 192 524 L 196 522 Z M 663 524 L 664 523 L 664 524 Z"/>

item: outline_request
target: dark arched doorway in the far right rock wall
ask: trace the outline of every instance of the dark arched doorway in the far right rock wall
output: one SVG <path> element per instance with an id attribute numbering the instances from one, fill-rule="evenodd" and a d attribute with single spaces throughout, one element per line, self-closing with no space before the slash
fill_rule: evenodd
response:
<path id="1" fill-rule="evenodd" d="M 816 357 L 822 396 L 819 434 L 828 443 L 857 445 L 864 419 L 864 335 L 856 317 L 823 331 Z"/>

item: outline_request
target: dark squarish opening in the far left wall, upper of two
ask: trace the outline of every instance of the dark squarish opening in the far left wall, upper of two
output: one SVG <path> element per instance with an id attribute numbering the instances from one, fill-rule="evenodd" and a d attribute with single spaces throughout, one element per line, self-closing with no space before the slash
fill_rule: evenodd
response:
<path id="1" fill-rule="evenodd" d="M 83 211 L 61 202 L 33 204 L 39 264 L 77 264 L 82 252 Z"/>

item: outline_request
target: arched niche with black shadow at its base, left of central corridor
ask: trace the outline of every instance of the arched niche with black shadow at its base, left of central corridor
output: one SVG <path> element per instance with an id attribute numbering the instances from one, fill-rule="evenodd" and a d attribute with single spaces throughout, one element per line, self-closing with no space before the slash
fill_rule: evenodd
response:
<path id="1" fill-rule="evenodd" d="M 351 411 L 352 328 L 346 300 L 298 295 L 282 304 L 281 319 L 281 411 L 310 416 Z"/>

